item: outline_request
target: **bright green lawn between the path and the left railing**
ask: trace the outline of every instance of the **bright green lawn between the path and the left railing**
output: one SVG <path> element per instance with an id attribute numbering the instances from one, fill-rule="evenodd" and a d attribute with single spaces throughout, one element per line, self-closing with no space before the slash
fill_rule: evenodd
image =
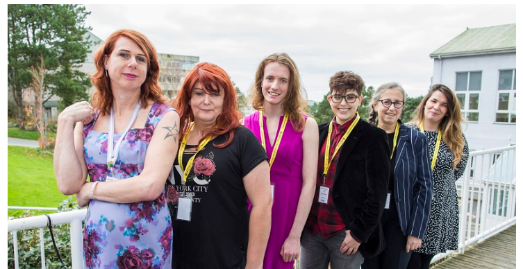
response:
<path id="1" fill-rule="evenodd" d="M 58 207 L 67 198 L 58 191 L 52 155 L 19 146 L 8 146 L 7 150 L 9 206 Z M 8 214 L 15 214 L 14 210 Z"/>

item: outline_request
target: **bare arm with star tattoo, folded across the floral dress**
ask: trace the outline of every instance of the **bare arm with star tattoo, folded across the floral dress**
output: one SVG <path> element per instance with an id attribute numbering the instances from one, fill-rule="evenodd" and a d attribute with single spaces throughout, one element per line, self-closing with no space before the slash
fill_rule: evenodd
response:
<path id="1" fill-rule="evenodd" d="M 99 182 L 94 199 L 106 202 L 130 203 L 155 200 L 163 191 L 178 150 L 179 115 L 167 112 L 154 130 L 147 147 L 144 170 L 140 175 L 124 180 Z M 87 205 L 93 183 L 86 183 L 76 193 L 78 205 Z"/>

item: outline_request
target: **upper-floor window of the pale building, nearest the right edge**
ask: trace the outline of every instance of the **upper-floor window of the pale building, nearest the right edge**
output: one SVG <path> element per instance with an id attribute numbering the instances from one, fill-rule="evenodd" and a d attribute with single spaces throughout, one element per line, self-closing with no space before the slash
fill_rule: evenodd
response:
<path id="1" fill-rule="evenodd" d="M 516 70 L 499 70 L 497 123 L 516 123 Z"/>

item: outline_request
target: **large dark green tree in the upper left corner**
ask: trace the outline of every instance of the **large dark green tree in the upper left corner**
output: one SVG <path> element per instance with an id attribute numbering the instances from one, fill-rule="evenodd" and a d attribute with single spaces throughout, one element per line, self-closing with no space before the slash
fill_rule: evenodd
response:
<path id="1" fill-rule="evenodd" d="M 84 40 L 85 17 L 90 12 L 78 5 L 8 5 L 8 87 L 24 129 L 22 94 L 32 82 L 31 67 L 44 59 L 43 89 L 47 101 L 57 95 L 62 106 L 88 98 L 88 76 L 79 71 L 90 40 Z"/>

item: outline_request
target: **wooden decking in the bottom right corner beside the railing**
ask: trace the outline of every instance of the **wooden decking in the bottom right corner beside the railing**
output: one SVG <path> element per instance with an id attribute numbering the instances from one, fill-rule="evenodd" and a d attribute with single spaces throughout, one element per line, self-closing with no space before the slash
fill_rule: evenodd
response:
<path id="1" fill-rule="evenodd" d="M 431 266 L 431 269 L 447 268 L 516 268 L 516 225 L 468 247 L 464 254 L 452 254 L 449 259 Z"/>

